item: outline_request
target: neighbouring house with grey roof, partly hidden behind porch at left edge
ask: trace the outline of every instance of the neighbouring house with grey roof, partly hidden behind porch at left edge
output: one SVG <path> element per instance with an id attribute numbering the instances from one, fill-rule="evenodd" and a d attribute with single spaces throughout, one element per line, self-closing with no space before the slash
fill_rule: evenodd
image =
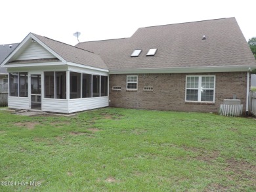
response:
<path id="1" fill-rule="evenodd" d="M 18 46 L 18 43 L 0 45 L 0 85 L 8 83 L 7 69 L 1 67 L 1 63 Z"/>

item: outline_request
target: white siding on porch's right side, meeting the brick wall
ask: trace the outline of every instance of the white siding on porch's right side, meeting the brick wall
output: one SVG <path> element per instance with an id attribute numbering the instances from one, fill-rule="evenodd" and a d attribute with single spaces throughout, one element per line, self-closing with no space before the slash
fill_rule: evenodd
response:
<path id="1" fill-rule="evenodd" d="M 108 107 L 108 97 L 82 98 L 70 100 L 68 104 L 68 112 L 85 111 L 100 107 Z"/>

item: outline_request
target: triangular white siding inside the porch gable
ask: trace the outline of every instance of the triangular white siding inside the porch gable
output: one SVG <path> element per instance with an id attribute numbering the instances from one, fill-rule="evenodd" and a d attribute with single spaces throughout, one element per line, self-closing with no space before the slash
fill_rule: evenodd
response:
<path id="1" fill-rule="evenodd" d="M 16 58 L 16 60 L 32 60 L 42 58 L 55 58 L 51 52 L 43 48 L 39 43 L 32 43 Z"/>

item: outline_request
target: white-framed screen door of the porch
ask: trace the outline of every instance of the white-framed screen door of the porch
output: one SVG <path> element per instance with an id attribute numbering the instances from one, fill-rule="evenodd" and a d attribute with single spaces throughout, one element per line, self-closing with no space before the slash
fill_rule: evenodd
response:
<path id="1" fill-rule="evenodd" d="M 31 109 L 41 110 L 41 74 L 32 74 L 31 76 Z"/>

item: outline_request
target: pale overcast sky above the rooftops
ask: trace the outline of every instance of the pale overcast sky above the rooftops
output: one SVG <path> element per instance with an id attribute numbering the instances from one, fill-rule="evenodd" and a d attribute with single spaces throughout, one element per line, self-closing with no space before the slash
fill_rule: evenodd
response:
<path id="1" fill-rule="evenodd" d="M 0 45 L 36 33 L 70 45 L 131 37 L 138 28 L 236 17 L 245 39 L 256 37 L 255 0 L 3 0 Z"/>

